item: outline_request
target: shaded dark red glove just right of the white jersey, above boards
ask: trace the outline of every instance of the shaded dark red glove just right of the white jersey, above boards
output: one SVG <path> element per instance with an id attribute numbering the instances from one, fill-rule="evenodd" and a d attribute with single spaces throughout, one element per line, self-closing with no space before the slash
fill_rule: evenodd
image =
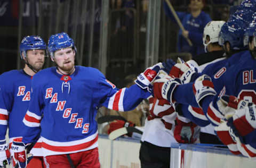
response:
<path id="1" fill-rule="evenodd" d="M 193 144 L 196 141 L 199 142 L 200 127 L 185 117 L 178 116 L 175 120 L 175 128 L 173 133 L 177 142 L 183 144 Z"/>

